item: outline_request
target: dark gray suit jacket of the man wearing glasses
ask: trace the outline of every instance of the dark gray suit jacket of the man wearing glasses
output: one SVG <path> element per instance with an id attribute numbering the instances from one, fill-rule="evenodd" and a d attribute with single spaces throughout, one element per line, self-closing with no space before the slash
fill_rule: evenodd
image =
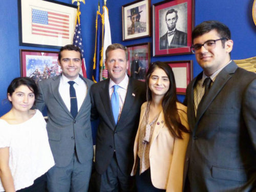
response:
<path id="1" fill-rule="evenodd" d="M 185 170 L 190 191 L 253 191 L 256 186 L 256 74 L 231 61 L 194 112 L 194 86 L 187 87 L 191 137 Z M 254 188 L 255 189 L 255 188 Z"/>

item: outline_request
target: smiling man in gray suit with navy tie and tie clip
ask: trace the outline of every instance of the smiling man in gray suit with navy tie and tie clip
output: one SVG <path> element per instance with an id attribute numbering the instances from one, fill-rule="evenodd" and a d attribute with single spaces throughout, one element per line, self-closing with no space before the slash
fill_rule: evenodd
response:
<path id="1" fill-rule="evenodd" d="M 58 54 L 61 76 L 40 81 L 36 108 L 47 106 L 47 131 L 55 166 L 47 173 L 49 192 L 88 191 L 93 160 L 90 87 L 79 75 L 82 56 L 67 45 Z"/>

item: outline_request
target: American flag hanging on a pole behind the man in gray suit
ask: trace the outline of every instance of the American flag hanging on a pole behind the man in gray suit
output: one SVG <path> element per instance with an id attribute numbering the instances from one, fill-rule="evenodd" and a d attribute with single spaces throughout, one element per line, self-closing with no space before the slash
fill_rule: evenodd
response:
<path id="1" fill-rule="evenodd" d="M 82 67 L 81 67 L 82 74 L 81 73 L 80 74 L 83 75 L 83 77 L 87 77 L 86 60 L 84 59 L 84 51 L 82 46 L 82 28 L 80 24 L 80 19 L 78 18 L 76 19 L 76 28 L 74 32 L 73 45 L 79 47 L 82 52 Z"/>

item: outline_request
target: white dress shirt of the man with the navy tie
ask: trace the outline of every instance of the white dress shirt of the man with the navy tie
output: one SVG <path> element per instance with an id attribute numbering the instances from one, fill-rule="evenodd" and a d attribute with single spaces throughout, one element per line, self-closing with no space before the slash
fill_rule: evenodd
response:
<path id="1" fill-rule="evenodd" d="M 70 84 L 68 83 L 69 81 L 71 80 L 68 79 L 65 75 L 61 75 L 59 82 L 59 94 L 64 103 L 66 104 L 68 110 L 70 111 Z M 76 91 L 77 109 L 79 111 L 87 95 L 87 84 L 79 76 L 73 81 L 75 81 L 74 88 Z"/>

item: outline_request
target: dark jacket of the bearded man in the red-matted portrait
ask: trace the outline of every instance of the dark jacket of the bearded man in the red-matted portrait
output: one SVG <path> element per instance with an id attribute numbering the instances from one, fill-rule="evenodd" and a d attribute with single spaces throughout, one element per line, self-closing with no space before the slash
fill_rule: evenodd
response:
<path id="1" fill-rule="evenodd" d="M 176 29 L 174 33 L 174 38 L 170 46 L 168 45 L 167 33 L 165 33 L 163 36 L 160 37 L 159 44 L 160 44 L 159 45 L 160 50 L 185 47 L 187 46 L 187 34 Z"/>

